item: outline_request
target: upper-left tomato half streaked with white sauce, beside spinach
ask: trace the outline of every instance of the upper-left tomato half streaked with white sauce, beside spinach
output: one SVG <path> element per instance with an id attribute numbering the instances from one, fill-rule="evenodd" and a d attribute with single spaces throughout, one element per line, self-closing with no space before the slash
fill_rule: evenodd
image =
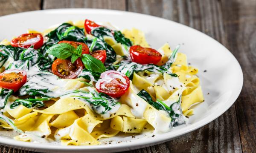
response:
<path id="1" fill-rule="evenodd" d="M 44 38 L 42 34 L 22 34 L 11 41 L 13 47 L 29 48 L 34 45 L 34 49 L 42 47 Z"/>

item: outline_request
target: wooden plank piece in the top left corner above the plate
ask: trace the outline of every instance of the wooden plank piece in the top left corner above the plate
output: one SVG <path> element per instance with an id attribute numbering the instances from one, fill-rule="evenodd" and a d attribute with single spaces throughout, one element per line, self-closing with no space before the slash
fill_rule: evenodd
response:
<path id="1" fill-rule="evenodd" d="M 0 16 L 41 8 L 41 0 L 0 0 Z"/>

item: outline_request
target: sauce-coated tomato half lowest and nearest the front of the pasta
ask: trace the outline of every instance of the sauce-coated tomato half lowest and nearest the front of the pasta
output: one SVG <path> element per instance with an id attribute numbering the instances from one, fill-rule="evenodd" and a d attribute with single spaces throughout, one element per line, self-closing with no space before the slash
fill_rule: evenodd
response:
<path id="1" fill-rule="evenodd" d="M 125 94 L 130 86 L 130 80 L 119 71 L 105 71 L 96 82 L 96 89 L 113 98 L 117 98 Z"/>

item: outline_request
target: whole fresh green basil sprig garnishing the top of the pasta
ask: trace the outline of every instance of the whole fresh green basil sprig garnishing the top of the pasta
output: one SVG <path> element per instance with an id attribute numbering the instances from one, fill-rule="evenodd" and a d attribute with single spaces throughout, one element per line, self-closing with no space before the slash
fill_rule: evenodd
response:
<path id="1" fill-rule="evenodd" d="M 85 68 L 87 68 L 89 71 L 99 73 L 106 71 L 105 66 L 99 59 L 96 59 L 89 54 L 82 54 L 82 45 L 74 48 L 72 45 L 67 43 L 55 44 L 47 50 L 47 53 L 59 59 L 67 59 L 71 57 L 72 63 L 80 57 Z"/>

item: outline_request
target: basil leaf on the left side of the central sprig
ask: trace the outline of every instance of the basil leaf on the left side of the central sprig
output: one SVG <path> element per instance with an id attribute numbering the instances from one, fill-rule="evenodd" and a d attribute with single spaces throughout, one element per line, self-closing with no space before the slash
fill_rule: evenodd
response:
<path id="1" fill-rule="evenodd" d="M 72 45 L 67 43 L 55 44 L 47 49 L 47 53 L 51 54 L 59 59 L 67 59 L 76 50 Z"/>

